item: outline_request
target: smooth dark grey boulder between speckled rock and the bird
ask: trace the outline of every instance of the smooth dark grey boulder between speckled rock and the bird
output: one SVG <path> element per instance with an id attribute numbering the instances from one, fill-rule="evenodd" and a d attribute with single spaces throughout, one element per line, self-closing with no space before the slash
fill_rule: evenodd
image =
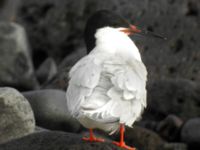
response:
<path id="1" fill-rule="evenodd" d="M 80 129 L 80 124 L 69 115 L 65 92 L 49 89 L 24 92 L 23 95 L 33 108 L 38 126 L 70 132 Z"/>

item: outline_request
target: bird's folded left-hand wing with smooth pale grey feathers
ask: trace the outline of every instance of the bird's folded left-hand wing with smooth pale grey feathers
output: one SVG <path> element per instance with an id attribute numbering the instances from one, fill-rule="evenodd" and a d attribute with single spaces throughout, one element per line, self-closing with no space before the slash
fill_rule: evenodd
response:
<path id="1" fill-rule="evenodd" d="M 92 56 L 83 57 L 69 72 L 67 106 L 73 116 L 77 116 L 81 104 L 90 96 L 100 78 L 101 66 Z"/>

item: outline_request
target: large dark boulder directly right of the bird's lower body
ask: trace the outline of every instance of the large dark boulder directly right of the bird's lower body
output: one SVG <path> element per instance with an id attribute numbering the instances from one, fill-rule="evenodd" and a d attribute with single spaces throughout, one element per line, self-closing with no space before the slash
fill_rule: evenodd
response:
<path id="1" fill-rule="evenodd" d="M 163 79 L 148 83 L 147 120 L 163 120 L 175 114 L 183 120 L 200 115 L 200 85 L 186 79 Z"/>

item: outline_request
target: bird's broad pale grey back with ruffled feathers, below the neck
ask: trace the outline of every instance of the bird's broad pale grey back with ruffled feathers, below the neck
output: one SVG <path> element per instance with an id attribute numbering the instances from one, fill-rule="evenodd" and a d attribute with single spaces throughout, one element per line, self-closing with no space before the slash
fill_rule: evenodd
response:
<path id="1" fill-rule="evenodd" d="M 146 106 L 146 74 L 138 60 L 89 54 L 70 72 L 68 107 L 77 118 L 131 126 Z"/>

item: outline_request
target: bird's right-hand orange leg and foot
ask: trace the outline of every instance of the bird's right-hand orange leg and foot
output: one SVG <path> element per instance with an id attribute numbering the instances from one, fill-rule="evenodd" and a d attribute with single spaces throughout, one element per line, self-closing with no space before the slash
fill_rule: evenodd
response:
<path id="1" fill-rule="evenodd" d="M 135 148 L 133 147 L 130 147 L 130 146 L 127 146 L 124 142 L 124 124 L 120 124 L 120 141 L 119 142 L 113 142 L 113 144 L 121 147 L 121 148 L 124 148 L 126 150 L 135 150 Z"/>

